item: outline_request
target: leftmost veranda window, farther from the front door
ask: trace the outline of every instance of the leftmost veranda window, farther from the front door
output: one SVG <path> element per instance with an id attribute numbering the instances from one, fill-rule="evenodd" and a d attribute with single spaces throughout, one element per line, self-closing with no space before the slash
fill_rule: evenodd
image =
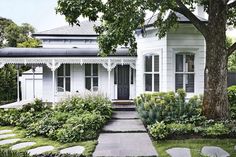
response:
<path id="1" fill-rule="evenodd" d="M 63 64 L 57 70 L 57 91 L 70 92 L 70 65 Z"/>

